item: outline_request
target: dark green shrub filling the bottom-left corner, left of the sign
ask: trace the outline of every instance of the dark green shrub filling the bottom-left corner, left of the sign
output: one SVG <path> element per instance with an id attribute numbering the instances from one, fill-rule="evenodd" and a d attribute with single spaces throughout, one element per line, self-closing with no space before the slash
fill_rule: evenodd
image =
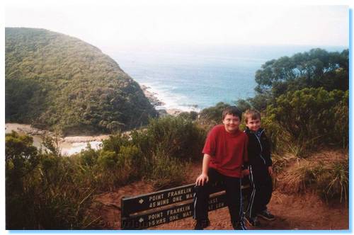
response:
<path id="1" fill-rule="evenodd" d="M 33 139 L 6 134 L 6 229 L 82 229 L 97 219 L 91 189 L 73 159 L 38 152 Z"/>

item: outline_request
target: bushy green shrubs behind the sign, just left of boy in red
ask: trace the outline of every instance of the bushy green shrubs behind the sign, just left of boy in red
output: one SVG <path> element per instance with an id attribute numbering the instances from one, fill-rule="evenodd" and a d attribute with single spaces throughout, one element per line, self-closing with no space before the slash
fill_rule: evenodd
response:
<path id="1" fill-rule="evenodd" d="M 153 180 L 160 188 L 181 182 L 180 162 L 200 159 L 205 136 L 205 130 L 190 119 L 161 117 L 150 120 L 144 130 L 132 131 L 130 136 L 111 135 L 103 140 L 101 150 L 86 148 L 78 154 L 76 165 L 86 184 L 98 190 L 139 178 Z"/>

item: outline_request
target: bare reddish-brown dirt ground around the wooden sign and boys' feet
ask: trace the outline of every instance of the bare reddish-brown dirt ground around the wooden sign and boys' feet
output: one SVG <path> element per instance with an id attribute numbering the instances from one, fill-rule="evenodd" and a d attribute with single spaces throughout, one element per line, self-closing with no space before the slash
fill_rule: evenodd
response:
<path id="1" fill-rule="evenodd" d="M 200 164 L 193 165 L 189 172 L 189 183 L 192 183 L 200 172 Z M 96 200 L 102 205 L 99 214 L 105 222 L 104 228 L 120 229 L 120 199 L 123 195 L 139 195 L 153 191 L 152 185 L 139 181 L 114 192 L 98 195 Z M 268 209 L 275 214 L 275 221 L 268 222 L 261 219 L 261 227 L 249 227 L 249 229 L 328 230 L 349 228 L 348 208 L 344 205 L 326 205 L 318 196 L 309 193 L 307 195 L 286 195 L 275 190 Z M 232 229 L 227 207 L 210 212 L 209 216 L 211 225 L 207 229 Z M 193 219 L 189 217 L 150 229 L 188 230 L 193 229 L 193 224 Z"/>

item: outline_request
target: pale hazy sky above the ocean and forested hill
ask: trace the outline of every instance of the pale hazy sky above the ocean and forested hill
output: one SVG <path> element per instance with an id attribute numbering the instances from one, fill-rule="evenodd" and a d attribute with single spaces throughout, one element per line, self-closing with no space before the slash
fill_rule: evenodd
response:
<path id="1" fill-rule="evenodd" d="M 161 44 L 348 46 L 348 18 L 348 6 L 245 5 L 236 1 L 11 0 L 5 8 L 6 27 L 45 28 L 101 48 Z"/>

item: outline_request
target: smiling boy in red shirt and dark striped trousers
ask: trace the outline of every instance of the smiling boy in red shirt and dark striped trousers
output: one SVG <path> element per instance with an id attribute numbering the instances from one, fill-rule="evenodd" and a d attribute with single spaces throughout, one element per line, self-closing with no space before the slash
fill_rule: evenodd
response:
<path id="1" fill-rule="evenodd" d="M 241 111 L 235 106 L 222 112 L 222 125 L 216 125 L 205 141 L 202 173 L 195 181 L 195 229 L 209 226 L 207 215 L 210 187 L 215 182 L 226 185 L 227 205 L 234 229 L 246 230 L 241 210 L 242 165 L 247 159 L 248 137 L 239 130 Z"/>

